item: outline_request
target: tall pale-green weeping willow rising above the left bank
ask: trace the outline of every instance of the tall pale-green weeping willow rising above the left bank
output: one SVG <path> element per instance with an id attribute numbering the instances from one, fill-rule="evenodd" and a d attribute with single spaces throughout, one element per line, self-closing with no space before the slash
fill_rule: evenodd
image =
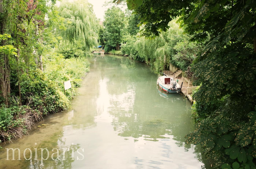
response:
<path id="1" fill-rule="evenodd" d="M 74 2 L 64 1 L 59 7 L 60 16 L 65 18 L 65 27 L 60 29 L 60 34 L 64 40 L 82 43 L 82 49 L 89 51 L 97 44 L 97 19 L 93 13 L 93 8 L 87 0 L 77 0 Z"/>

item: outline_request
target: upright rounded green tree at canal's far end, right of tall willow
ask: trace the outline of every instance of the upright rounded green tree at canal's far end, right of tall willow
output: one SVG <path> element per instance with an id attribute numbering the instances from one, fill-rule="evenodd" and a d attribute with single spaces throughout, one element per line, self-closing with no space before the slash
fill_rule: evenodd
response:
<path id="1" fill-rule="evenodd" d="M 124 13 L 118 7 L 112 7 L 105 11 L 103 25 L 105 26 L 105 50 L 116 48 L 120 50 L 119 44 L 122 42 Z"/>

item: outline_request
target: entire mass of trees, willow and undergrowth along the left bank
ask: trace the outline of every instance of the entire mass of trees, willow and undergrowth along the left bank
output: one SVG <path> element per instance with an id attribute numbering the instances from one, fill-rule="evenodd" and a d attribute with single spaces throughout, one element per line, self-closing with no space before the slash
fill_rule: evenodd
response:
<path id="1" fill-rule="evenodd" d="M 98 27 L 92 6 L 75 1 L 56 8 L 54 3 L 3 2 L 0 142 L 22 137 L 48 113 L 66 110 L 72 93 L 64 94 L 63 82 L 80 87 L 89 71 L 86 57 L 97 44 Z"/>

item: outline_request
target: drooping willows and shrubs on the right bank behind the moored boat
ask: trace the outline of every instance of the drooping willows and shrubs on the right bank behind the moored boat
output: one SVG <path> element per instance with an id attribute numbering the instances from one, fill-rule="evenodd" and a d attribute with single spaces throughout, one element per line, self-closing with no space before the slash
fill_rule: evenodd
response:
<path id="1" fill-rule="evenodd" d="M 122 53 L 132 59 L 147 62 L 154 73 L 164 70 L 164 65 L 169 67 L 169 63 L 186 71 L 202 50 L 202 43 L 190 42 L 190 37 L 176 22 L 171 21 L 168 24 L 170 28 L 155 38 L 126 35 L 121 45 Z"/>

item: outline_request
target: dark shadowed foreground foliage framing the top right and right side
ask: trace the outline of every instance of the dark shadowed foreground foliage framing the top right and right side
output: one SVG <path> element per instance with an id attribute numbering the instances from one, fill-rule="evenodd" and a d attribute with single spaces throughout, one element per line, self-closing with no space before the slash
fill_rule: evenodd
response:
<path id="1" fill-rule="evenodd" d="M 179 16 L 189 39 L 205 43 L 191 65 L 194 84 L 200 85 L 193 94 L 198 124 L 186 143 L 201 145 L 214 168 L 256 168 L 256 2 L 127 0 L 127 5 L 139 15 L 142 36 L 161 37 Z"/>

